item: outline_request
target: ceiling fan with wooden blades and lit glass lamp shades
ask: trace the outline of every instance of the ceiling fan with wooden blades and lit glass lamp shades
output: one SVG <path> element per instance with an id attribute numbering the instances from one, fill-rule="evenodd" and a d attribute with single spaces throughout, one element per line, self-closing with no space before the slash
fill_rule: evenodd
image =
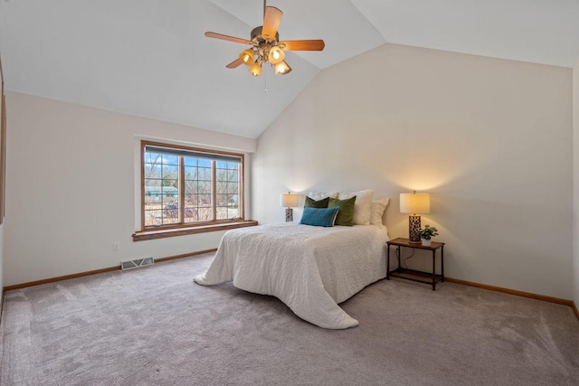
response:
<path id="1" fill-rule="evenodd" d="M 281 41 L 278 27 L 280 26 L 283 13 L 274 6 L 267 6 L 263 0 L 263 25 L 252 30 L 251 40 L 223 35 L 221 33 L 205 33 L 205 36 L 214 39 L 222 39 L 229 42 L 241 42 L 252 47 L 239 54 L 239 58 L 227 66 L 235 69 L 242 63 L 250 67 L 254 77 L 261 75 L 261 66 L 270 64 L 276 74 L 285 75 L 291 71 L 291 67 L 284 60 L 285 51 L 322 51 L 325 43 L 323 40 L 293 40 Z"/>

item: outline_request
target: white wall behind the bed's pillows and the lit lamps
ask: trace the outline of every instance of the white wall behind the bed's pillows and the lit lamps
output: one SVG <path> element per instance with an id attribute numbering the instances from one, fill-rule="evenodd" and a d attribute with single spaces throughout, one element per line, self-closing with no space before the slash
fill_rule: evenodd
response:
<path id="1" fill-rule="evenodd" d="M 428 192 L 448 277 L 570 299 L 572 140 L 571 69 L 385 44 L 320 72 L 259 138 L 252 213 L 374 188 L 407 237 L 398 194 Z"/>

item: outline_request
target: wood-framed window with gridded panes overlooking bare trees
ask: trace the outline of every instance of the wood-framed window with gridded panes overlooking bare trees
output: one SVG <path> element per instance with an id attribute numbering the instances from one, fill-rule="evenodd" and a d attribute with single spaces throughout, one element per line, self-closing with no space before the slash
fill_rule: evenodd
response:
<path id="1" fill-rule="evenodd" d="M 143 231 L 243 219 L 243 155 L 141 142 Z"/>

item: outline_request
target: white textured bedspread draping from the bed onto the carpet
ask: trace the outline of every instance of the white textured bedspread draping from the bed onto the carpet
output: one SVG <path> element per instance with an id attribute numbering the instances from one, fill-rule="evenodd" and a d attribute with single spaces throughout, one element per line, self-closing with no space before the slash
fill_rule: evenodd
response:
<path id="1" fill-rule="evenodd" d="M 385 227 L 312 227 L 295 222 L 228 231 L 211 266 L 195 282 L 232 281 L 272 295 L 323 328 L 358 325 L 337 303 L 386 276 Z"/>

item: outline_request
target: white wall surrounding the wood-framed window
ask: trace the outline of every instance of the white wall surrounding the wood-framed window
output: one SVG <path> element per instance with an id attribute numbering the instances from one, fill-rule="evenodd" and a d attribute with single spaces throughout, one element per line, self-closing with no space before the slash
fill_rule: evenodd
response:
<path id="1" fill-rule="evenodd" d="M 135 144 L 153 137 L 248 154 L 254 139 L 15 92 L 6 103 L 4 286 L 217 247 L 223 231 L 132 240 Z"/>

